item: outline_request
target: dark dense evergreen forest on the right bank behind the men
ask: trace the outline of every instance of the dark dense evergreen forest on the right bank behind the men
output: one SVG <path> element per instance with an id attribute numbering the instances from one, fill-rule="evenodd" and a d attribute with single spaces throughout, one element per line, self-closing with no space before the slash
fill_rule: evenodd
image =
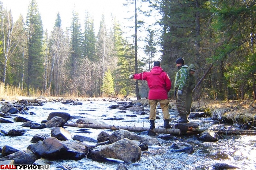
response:
<path id="1" fill-rule="evenodd" d="M 255 0 L 150 0 L 161 13 L 163 67 L 196 64 L 195 97 L 256 99 Z"/>

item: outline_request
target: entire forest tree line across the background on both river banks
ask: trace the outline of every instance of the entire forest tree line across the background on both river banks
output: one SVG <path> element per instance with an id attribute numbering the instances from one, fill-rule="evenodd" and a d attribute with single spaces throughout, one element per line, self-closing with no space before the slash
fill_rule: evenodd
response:
<path id="1" fill-rule="evenodd" d="M 31 0 L 26 18 L 17 21 L 0 2 L 1 81 L 27 94 L 127 96 L 138 93 L 129 74 L 150 70 L 154 60 L 161 60 L 174 82 L 175 61 L 182 57 L 185 64 L 197 66 L 197 82 L 202 80 L 194 98 L 256 99 L 256 0 L 127 0 L 126 5 L 136 5 L 130 18 L 132 43 L 114 18 L 107 28 L 102 16 L 95 33 L 90 13 L 86 11 L 81 25 L 74 9 L 70 28 L 63 30 L 57 13 L 48 33 L 36 0 Z M 155 24 L 161 29 L 143 23 L 152 11 L 160 13 Z M 137 40 L 145 46 L 138 47 Z M 159 47 L 162 55 L 155 59 Z M 145 58 L 137 58 L 138 48 Z M 147 84 L 138 84 L 144 97 Z"/>

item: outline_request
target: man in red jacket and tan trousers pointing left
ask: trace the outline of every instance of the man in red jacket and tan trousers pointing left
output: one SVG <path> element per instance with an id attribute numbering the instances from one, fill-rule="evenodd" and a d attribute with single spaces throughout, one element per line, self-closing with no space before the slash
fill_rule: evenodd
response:
<path id="1" fill-rule="evenodd" d="M 146 80 L 149 87 L 148 103 L 150 104 L 149 120 L 150 129 L 155 128 L 156 108 L 157 103 L 163 112 L 165 129 L 171 128 L 169 125 L 169 99 L 167 93 L 170 91 L 172 82 L 166 72 L 163 71 L 160 62 L 154 62 L 154 67 L 151 71 L 142 72 L 139 74 L 132 74 L 130 79 Z"/>

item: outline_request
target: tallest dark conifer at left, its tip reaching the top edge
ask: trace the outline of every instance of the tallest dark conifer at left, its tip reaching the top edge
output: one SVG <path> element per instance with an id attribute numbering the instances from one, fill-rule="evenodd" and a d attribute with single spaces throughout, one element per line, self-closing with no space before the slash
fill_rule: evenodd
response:
<path id="1" fill-rule="evenodd" d="M 30 2 L 26 26 L 29 35 L 27 44 L 27 93 L 30 95 L 30 88 L 42 88 L 42 75 L 44 72 L 42 63 L 43 25 L 36 0 L 31 0 Z"/>

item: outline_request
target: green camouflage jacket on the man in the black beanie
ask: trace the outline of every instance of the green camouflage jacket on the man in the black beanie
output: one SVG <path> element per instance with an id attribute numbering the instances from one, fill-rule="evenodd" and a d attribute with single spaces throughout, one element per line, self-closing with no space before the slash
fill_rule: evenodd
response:
<path id="1" fill-rule="evenodd" d="M 188 87 L 188 66 L 182 66 L 175 76 L 174 88 L 183 90 L 184 87 Z"/>

